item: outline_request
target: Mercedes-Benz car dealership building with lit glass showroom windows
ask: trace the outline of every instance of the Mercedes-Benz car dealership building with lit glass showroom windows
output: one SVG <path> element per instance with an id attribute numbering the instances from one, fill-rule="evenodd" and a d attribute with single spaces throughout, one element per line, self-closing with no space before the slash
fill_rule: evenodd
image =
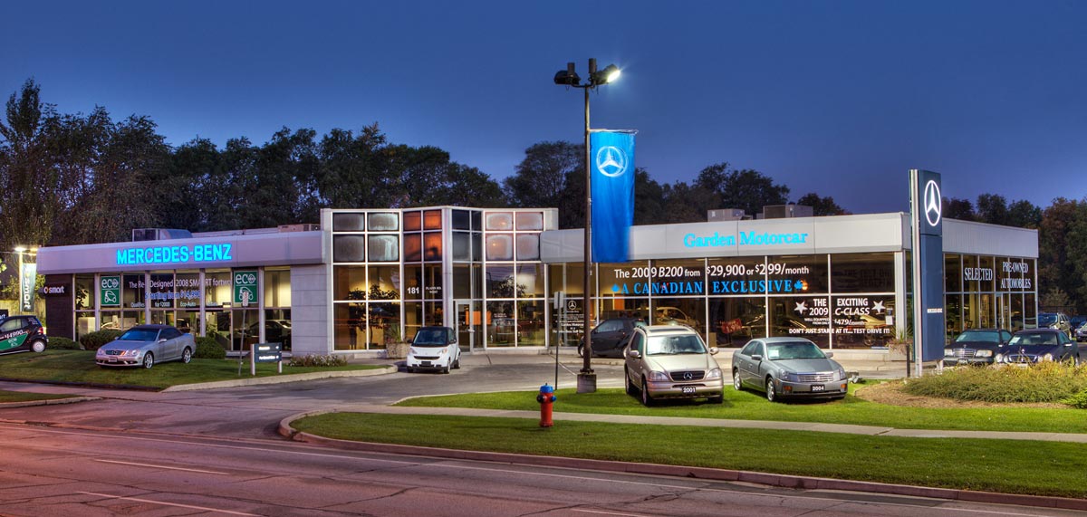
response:
<path id="1" fill-rule="evenodd" d="M 320 225 L 38 251 L 52 336 L 173 324 L 227 350 L 380 355 L 426 325 L 465 351 L 575 344 L 583 232 L 555 209 L 324 210 Z M 1037 230 L 945 219 L 947 332 L 1032 327 Z M 909 325 L 904 213 L 635 226 L 630 261 L 594 264 L 592 319 L 690 325 L 710 344 L 800 336 L 882 349 Z"/>

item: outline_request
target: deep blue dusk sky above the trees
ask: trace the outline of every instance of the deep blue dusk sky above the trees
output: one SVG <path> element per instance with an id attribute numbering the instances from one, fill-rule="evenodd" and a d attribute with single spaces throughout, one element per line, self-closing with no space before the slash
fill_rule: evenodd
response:
<path id="1" fill-rule="evenodd" d="M 582 141 L 573 61 L 622 67 L 592 126 L 638 130 L 637 165 L 691 181 L 728 162 L 907 211 L 944 194 L 1042 207 L 1087 194 L 1087 2 L 5 2 L 0 93 L 146 115 L 172 146 L 263 143 L 378 123 L 497 180 L 533 143 Z"/>

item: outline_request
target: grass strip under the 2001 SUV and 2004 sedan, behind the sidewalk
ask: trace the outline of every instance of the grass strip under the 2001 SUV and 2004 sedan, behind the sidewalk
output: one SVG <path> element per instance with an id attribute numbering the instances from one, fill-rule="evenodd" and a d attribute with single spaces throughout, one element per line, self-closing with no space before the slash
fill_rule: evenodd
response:
<path id="1" fill-rule="evenodd" d="M 852 395 L 865 384 L 850 384 L 851 394 L 837 402 L 770 403 L 760 392 L 725 388 L 723 404 L 663 402 L 642 406 L 622 389 L 596 393 L 559 390 L 555 412 L 728 418 L 737 420 L 817 421 L 895 427 L 900 429 L 950 429 L 977 431 L 1087 432 L 1087 412 L 1075 408 L 953 407 L 922 408 L 867 402 Z M 476 407 L 482 409 L 539 411 L 536 392 L 471 393 L 409 399 L 404 406 Z"/>

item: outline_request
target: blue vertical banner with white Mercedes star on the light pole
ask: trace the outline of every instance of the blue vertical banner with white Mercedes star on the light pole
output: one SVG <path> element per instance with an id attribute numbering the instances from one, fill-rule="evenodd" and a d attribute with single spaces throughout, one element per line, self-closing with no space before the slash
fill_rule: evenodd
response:
<path id="1" fill-rule="evenodd" d="M 627 262 L 630 256 L 634 134 L 630 130 L 600 130 L 589 135 L 592 262 Z"/>

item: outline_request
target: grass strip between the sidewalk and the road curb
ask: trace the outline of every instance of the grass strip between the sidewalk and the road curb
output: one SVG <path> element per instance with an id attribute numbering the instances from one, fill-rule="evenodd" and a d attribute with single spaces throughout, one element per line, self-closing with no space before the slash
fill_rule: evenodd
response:
<path id="1" fill-rule="evenodd" d="M 1087 455 L 1076 443 L 578 421 L 547 429 L 528 418 L 360 413 L 318 415 L 292 426 L 368 442 L 1087 497 Z"/>

